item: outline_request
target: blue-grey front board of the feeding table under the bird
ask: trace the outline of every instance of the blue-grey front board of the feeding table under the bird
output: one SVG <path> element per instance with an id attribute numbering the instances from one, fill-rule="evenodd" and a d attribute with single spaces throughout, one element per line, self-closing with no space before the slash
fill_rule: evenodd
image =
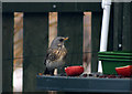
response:
<path id="1" fill-rule="evenodd" d="M 36 75 L 36 90 L 90 93 L 130 93 L 131 79 Z"/>

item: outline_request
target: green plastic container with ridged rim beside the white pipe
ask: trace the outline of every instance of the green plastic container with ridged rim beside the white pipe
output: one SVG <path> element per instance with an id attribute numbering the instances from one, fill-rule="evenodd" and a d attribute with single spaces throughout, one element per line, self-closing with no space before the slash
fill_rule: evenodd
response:
<path id="1" fill-rule="evenodd" d="M 117 74 L 116 67 L 132 65 L 132 52 L 99 52 L 103 74 Z"/>

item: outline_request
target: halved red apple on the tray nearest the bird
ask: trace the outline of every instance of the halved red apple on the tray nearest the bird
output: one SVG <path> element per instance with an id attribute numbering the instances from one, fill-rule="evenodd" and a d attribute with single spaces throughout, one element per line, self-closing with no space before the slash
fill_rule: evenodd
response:
<path id="1" fill-rule="evenodd" d="M 65 72 L 68 76 L 80 75 L 84 72 L 82 66 L 68 66 L 65 69 Z"/>

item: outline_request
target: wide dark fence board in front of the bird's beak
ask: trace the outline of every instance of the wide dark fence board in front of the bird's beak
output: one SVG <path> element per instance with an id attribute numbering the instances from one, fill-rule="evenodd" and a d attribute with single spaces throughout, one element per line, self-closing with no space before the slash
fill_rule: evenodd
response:
<path id="1" fill-rule="evenodd" d="M 82 64 L 82 12 L 58 12 L 58 35 L 69 36 L 66 65 Z"/>

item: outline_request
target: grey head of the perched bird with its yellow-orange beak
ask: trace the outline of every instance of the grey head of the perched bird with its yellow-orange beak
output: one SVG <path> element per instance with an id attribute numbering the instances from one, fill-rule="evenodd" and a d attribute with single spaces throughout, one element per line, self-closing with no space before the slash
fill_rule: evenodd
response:
<path id="1" fill-rule="evenodd" d="M 57 36 L 52 41 L 51 48 L 57 48 L 57 46 L 63 46 L 64 42 L 68 40 L 68 36 Z"/>

